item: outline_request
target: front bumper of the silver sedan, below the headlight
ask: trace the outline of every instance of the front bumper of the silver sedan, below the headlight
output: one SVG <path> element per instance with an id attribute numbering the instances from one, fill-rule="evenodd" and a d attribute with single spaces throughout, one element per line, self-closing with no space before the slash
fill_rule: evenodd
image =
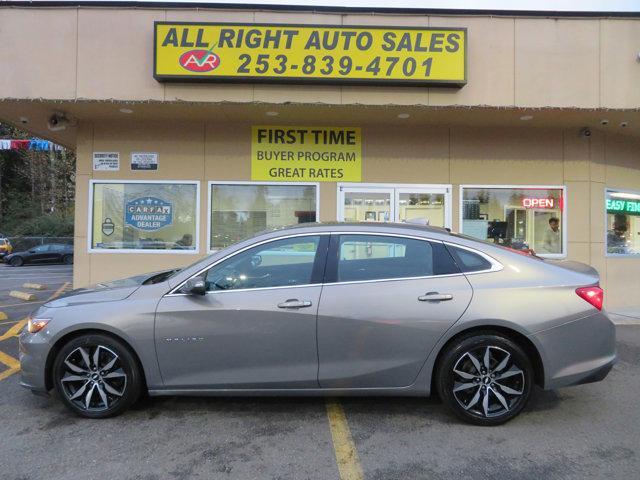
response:
<path id="1" fill-rule="evenodd" d="M 47 394 L 45 381 L 49 343 L 42 335 L 23 331 L 18 337 L 20 385 L 35 394 Z"/>

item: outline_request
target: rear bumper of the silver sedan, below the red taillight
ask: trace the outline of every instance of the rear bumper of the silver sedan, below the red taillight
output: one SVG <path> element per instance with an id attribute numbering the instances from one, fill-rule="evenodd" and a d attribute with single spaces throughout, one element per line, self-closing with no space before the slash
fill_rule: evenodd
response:
<path id="1" fill-rule="evenodd" d="M 615 365 L 616 329 L 606 313 L 565 323 L 530 336 L 539 345 L 544 388 L 603 380 Z"/>

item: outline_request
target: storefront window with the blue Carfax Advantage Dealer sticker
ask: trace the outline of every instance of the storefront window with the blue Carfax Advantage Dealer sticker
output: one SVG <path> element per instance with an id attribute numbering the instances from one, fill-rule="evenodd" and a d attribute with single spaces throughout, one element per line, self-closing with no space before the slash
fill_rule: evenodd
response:
<path id="1" fill-rule="evenodd" d="M 92 190 L 92 249 L 197 251 L 197 182 L 96 181 Z"/>

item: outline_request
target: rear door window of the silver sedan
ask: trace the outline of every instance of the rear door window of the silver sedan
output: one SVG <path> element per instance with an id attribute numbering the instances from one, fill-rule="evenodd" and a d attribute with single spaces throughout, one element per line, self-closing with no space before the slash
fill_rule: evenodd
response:
<path id="1" fill-rule="evenodd" d="M 340 236 L 338 282 L 427 277 L 459 272 L 441 243 L 382 235 Z"/>

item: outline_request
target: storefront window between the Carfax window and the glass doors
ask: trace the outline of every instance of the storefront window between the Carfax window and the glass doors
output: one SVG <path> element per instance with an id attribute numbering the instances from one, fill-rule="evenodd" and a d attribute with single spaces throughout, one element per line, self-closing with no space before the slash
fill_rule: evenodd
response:
<path id="1" fill-rule="evenodd" d="M 268 228 L 317 221 L 316 184 L 211 183 L 209 249 Z"/>

